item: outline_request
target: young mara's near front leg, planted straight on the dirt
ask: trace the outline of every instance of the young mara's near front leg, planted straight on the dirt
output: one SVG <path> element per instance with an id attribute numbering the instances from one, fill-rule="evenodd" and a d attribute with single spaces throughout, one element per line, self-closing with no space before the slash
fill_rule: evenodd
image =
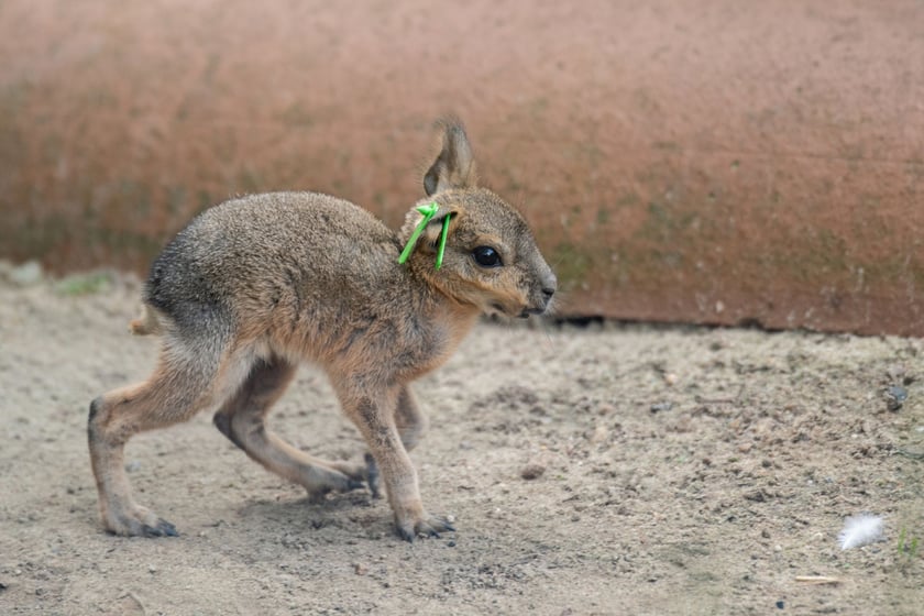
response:
<path id="1" fill-rule="evenodd" d="M 378 464 L 398 535 L 414 541 L 418 535 L 437 537 L 443 530 L 455 530 L 444 518 L 428 514 L 420 501 L 417 471 L 395 421 L 403 388 L 370 388 L 349 383 L 338 384 L 337 389 L 343 410 L 360 429 Z"/>

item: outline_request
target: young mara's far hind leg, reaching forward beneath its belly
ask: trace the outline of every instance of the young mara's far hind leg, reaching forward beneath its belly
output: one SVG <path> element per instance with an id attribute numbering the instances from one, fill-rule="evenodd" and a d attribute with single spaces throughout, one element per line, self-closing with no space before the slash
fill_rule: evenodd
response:
<path id="1" fill-rule="evenodd" d="M 238 393 L 216 413 L 215 425 L 253 460 L 305 486 L 312 496 L 362 487 L 362 465 L 315 458 L 266 429 L 264 418 L 285 392 L 295 369 L 279 358 L 257 361 Z"/>

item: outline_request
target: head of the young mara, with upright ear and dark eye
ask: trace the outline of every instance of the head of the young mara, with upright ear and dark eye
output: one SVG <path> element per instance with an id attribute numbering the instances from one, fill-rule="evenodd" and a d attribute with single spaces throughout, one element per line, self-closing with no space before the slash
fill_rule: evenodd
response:
<path id="1" fill-rule="evenodd" d="M 439 209 L 424 229 L 410 266 L 457 301 L 485 314 L 527 317 L 546 312 L 556 293 L 552 273 L 522 216 L 501 197 L 480 188 L 462 124 L 439 123 L 442 147 L 424 177 Z M 442 265 L 436 270 L 440 235 L 449 217 Z M 411 209 L 402 228 L 407 242 L 424 215 Z"/>

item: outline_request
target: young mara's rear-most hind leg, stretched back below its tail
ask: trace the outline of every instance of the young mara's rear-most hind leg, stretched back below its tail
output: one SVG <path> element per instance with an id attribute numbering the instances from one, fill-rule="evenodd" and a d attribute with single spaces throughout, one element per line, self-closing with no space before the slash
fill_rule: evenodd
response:
<path id="1" fill-rule="evenodd" d="M 197 361 L 198 360 L 198 361 Z M 141 384 L 114 389 L 90 403 L 87 436 L 102 522 L 116 535 L 175 536 L 176 528 L 138 505 L 124 469 L 124 447 L 138 432 L 185 421 L 211 403 L 218 366 L 162 351 Z"/>

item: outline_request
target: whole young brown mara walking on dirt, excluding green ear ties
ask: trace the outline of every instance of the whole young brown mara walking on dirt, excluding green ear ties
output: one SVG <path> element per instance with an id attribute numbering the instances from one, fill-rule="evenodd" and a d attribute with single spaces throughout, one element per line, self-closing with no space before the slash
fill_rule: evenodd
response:
<path id="1" fill-rule="evenodd" d="M 134 333 L 160 333 L 144 383 L 90 404 L 89 448 L 102 521 L 118 535 L 176 535 L 138 505 L 123 464 L 135 433 L 215 410 L 248 455 L 312 495 L 384 482 L 407 540 L 452 527 L 424 508 L 408 451 L 426 420 L 409 383 L 452 353 L 480 314 L 525 317 L 549 307 L 552 274 L 522 217 L 475 186 L 462 125 L 440 123 L 442 147 L 424 186 L 437 215 L 409 260 L 398 233 L 367 211 L 314 193 L 253 195 L 196 218 L 154 261 Z M 446 217 L 442 267 L 436 245 Z M 264 417 L 299 362 L 319 364 L 372 457 L 328 462 L 268 431 Z"/>

